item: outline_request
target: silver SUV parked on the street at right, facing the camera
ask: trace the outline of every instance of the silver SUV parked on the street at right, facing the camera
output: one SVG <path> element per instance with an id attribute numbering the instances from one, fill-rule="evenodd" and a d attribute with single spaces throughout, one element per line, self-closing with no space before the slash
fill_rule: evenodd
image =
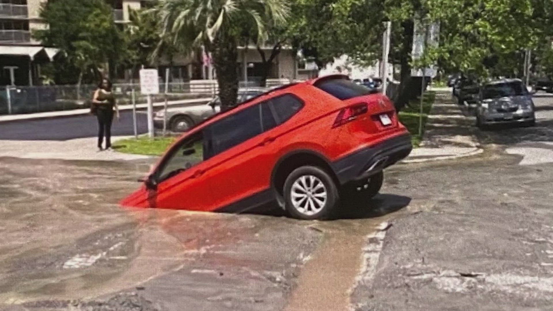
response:
<path id="1" fill-rule="evenodd" d="M 520 79 L 504 79 L 484 84 L 480 89 L 476 125 L 496 123 L 534 126 L 536 116 L 532 95 Z"/>

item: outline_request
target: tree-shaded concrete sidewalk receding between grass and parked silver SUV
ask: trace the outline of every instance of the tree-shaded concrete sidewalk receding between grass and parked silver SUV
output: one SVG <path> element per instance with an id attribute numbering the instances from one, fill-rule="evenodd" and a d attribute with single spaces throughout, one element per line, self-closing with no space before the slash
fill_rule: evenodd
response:
<path id="1" fill-rule="evenodd" d="M 474 118 L 465 115 L 447 91 L 436 92 L 423 141 L 404 163 L 468 157 L 482 153 L 476 142 Z"/>

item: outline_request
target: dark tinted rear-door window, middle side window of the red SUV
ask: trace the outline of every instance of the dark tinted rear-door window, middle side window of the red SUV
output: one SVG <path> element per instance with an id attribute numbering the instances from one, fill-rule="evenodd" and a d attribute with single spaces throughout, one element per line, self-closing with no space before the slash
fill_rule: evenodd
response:
<path id="1" fill-rule="evenodd" d="M 236 112 L 210 126 L 213 154 L 241 144 L 263 132 L 259 105 Z"/>

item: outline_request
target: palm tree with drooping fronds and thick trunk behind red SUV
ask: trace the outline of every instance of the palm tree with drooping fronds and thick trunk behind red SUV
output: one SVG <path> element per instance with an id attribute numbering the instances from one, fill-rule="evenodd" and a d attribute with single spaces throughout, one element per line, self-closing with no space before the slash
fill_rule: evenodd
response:
<path id="1" fill-rule="evenodd" d="M 165 0 L 158 14 L 161 40 L 169 38 L 189 52 L 205 46 L 212 53 L 222 108 L 227 108 L 236 105 L 238 44 L 244 30 L 255 25 L 257 40 L 263 42 L 267 25 L 285 23 L 289 6 L 288 0 Z"/>

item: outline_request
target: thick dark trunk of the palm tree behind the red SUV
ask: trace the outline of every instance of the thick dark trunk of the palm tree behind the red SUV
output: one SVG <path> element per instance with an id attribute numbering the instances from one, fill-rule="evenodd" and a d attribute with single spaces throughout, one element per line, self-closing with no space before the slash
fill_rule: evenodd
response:
<path id="1" fill-rule="evenodd" d="M 213 65 L 217 72 L 221 110 L 236 106 L 238 95 L 238 42 L 223 31 L 212 46 Z"/>

